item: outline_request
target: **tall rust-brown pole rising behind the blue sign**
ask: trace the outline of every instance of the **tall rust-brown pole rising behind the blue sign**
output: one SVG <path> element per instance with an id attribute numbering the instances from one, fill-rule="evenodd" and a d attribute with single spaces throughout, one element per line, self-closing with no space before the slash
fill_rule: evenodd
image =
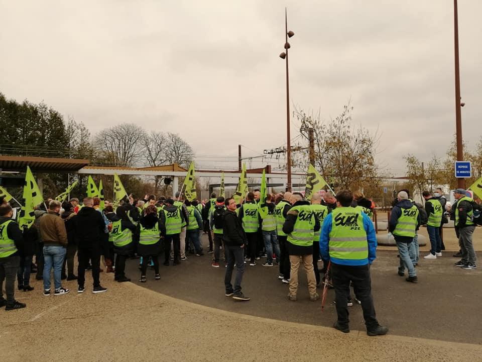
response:
<path id="1" fill-rule="evenodd" d="M 458 55 L 458 11 L 457 0 L 453 0 L 454 47 L 455 47 L 455 135 L 457 143 L 457 161 L 463 161 L 462 148 L 462 113 L 460 109 L 460 64 Z M 457 186 L 465 188 L 465 179 L 457 178 Z"/>

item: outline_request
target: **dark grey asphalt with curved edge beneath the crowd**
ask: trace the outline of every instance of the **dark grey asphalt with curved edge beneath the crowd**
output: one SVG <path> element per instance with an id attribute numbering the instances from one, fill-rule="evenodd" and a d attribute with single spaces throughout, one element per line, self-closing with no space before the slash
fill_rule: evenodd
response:
<path id="1" fill-rule="evenodd" d="M 202 237 L 207 251 L 207 236 Z M 422 253 L 423 255 L 423 253 Z M 407 283 L 397 274 L 399 259 L 396 248 L 379 250 L 373 263 L 372 289 L 380 324 L 391 334 L 482 344 L 482 268 L 463 270 L 453 266 L 458 259 L 444 252 L 436 260 L 421 258 L 417 267 L 418 284 Z M 480 255 L 482 256 L 482 255 Z M 279 268 L 246 264 L 242 283 L 249 302 L 235 302 L 224 296 L 224 263 L 211 266 L 212 254 L 189 255 L 180 265 L 163 266 L 161 280 L 154 280 L 148 270 L 147 283 L 139 283 L 139 259 L 129 260 L 127 275 L 139 286 L 188 302 L 274 320 L 331 327 L 336 320 L 334 291 L 328 292 L 324 311 L 321 300 L 310 302 L 306 277 L 300 270 L 298 301 L 287 299 L 288 286 L 278 279 Z M 321 266 L 321 263 L 320 263 Z M 321 288 L 318 291 L 321 294 Z M 362 309 L 355 304 L 349 309 L 350 328 L 364 330 Z"/>

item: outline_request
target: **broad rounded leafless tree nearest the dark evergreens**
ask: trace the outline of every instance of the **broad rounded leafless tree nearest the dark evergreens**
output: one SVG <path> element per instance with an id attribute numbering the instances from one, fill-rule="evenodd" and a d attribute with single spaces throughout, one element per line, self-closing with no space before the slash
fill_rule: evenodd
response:
<path id="1" fill-rule="evenodd" d="M 133 166 L 139 161 L 147 138 L 144 129 L 133 123 L 123 123 L 100 131 L 95 137 L 97 147 L 115 157 L 119 166 Z"/>

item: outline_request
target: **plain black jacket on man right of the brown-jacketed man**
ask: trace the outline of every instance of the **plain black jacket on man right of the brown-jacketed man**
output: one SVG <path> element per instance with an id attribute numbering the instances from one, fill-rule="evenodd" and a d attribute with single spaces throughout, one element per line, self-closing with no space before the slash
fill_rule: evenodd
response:
<path id="1" fill-rule="evenodd" d="M 72 220 L 78 247 L 84 249 L 100 248 L 100 235 L 105 233 L 102 215 L 94 208 L 84 206 Z"/>

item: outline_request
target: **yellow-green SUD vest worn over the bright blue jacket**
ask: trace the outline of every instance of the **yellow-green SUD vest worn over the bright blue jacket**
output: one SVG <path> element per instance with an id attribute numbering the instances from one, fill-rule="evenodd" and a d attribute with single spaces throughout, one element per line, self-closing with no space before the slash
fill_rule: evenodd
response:
<path id="1" fill-rule="evenodd" d="M 344 260 L 368 258 L 367 232 L 363 226 L 362 211 L 340 207 L 331 212 L 330 257 Z"/>

